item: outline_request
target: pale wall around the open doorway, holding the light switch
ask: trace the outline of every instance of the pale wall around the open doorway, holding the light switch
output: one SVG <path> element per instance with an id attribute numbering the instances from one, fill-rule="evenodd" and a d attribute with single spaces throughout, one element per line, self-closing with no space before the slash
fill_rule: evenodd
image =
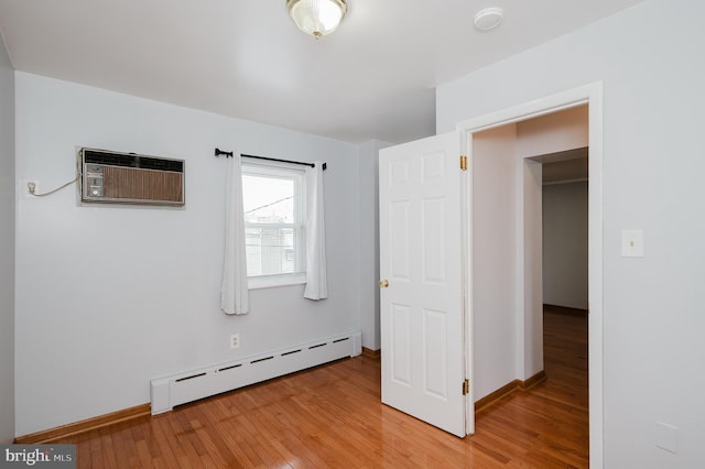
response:
<path id="1" fill-rule="evenodd" d="M 703 2 L 647 0 L 437 89 L 441 133 L 603 80 L 605 467 L 705 458 L 703 18 Z M 621 258 L 634 228 L 646 255 Z M 679 428 L 676 454 L 657 422 Z"/>

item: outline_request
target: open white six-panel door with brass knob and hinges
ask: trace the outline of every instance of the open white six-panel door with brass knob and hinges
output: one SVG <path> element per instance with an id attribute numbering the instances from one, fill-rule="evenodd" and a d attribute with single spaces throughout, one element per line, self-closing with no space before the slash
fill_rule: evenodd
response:
<path id="1" fill-rule="evenodd" d="M 382 402 L 459 437 L 474 430 L 464 393 L 466 175 L 458 132 L 380 151 Z"/>

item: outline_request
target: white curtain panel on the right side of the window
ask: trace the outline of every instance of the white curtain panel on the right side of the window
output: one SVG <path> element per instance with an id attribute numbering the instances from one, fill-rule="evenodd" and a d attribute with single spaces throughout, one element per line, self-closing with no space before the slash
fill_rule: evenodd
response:
<path id="1" fill-rule="evenodd" d="M 304 298 L 328 297 L 326 231 L 323 217 L 323 163 L 306 168 L 306 288 Z"/>

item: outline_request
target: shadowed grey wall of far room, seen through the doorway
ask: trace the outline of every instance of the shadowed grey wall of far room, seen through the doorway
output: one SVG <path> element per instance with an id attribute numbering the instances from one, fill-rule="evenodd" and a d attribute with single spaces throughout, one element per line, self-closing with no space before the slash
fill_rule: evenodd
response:
<path id="1" fill-rule="evenodd" d="M 543 303 L 587 309 L 587 182 L 543 186 Z"/>

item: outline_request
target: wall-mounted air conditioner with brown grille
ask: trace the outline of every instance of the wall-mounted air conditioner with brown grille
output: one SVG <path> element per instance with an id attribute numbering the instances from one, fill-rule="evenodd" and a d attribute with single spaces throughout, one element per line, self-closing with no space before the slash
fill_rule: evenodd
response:
<path id="1" fill-rule="evenodd" d="M 80 200 L 184 205 L 184 161 L 80 149 Z"/>

